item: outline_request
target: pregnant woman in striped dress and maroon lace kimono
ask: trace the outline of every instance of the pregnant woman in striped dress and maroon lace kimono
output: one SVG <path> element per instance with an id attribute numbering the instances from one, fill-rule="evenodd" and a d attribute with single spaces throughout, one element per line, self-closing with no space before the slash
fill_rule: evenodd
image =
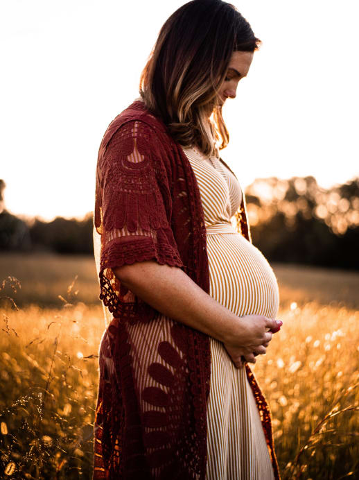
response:
<path id="1" fill-rule="evenodd" d="M 258 44 L 229 3 L 186 3 L 100 144 L 94 249 L 107 328 L 94 479 L 279 478 L 248 365 L 281 326 L 277 281 L 219 155 L 222 105 Z"/>

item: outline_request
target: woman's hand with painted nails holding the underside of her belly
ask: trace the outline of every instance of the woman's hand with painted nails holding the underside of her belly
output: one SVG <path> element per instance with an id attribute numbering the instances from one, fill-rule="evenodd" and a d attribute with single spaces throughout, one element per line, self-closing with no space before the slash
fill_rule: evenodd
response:
<path id="1" fill-rule="evenodd" d="M 256 356 L 265 354 L 272 334 L 278 332 L 282 325 L 281 320 L 259 315 L 246 315 L 240 317 L 240 320 L 243 320 L 247 327 L 245 335 L 241 325 L 241 334 L 232 334 L 223 342 L 236 368 L 243 366 L 245 361 L 256 363 Z"/>

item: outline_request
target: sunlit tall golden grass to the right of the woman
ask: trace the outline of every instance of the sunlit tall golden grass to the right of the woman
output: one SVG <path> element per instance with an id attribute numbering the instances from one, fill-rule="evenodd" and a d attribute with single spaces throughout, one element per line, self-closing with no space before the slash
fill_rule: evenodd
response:
<path id="1" fill-rule="evenodd" d="M 359 312 L 292 303 L 254 367 L 283 479 L 359 478 Z"/>

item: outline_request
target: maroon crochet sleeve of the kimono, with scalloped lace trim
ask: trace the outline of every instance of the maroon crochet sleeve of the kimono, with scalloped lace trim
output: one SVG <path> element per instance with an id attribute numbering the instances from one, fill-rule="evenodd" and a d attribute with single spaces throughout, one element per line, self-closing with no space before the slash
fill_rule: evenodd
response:
<path id="1" fill-rule="evenodd" d="M 100 148 L 101 151 L 101 148 Z M 149 305 L 125 288 L 113 269 L 155 260 L 182 267 L 170 228 L 170 188 L 156 133 L 130 121 L 98 157 L 94 223 L 100 234 L 100 299 L 115 317 L 148 316 Z"/>

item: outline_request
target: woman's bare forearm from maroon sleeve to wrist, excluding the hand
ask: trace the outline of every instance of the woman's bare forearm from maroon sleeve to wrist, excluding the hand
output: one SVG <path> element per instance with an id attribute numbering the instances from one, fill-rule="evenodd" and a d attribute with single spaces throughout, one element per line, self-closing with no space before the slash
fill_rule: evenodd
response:
<path id="1" fill-rule="evenodd" d="M 130 291 L 161 314 L 227 342 L 231 336 L 246 341 L 247 325 L 211 298 L 181 268 L 155 261 L 114 268 L 114 274 Z"/>

